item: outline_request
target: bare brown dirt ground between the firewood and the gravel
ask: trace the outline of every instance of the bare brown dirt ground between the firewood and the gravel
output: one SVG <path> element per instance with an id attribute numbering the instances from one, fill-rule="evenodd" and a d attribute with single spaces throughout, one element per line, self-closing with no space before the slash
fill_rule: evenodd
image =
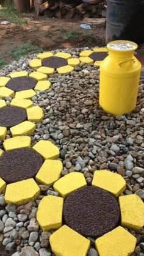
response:
<path id="1" fill-rule="evenodd" d="M 9 19 L 7 19 L 9 21 Z M 0 53 L 4 54 L 15 46 L 31 41 L 34 45 L 45 49 L 74 48 L 84 46 L 105 45 L 105 28 L 82 29 L 80 20 L 57 20 L 56 18 L 40 17 L 34 15 L 26 17 L 27 24 L 18 26 L 9 23 L 0 24 Z M 0 22 L 4 16 L 0 16 Z M 12 60 L 6 57 L 6 62 Z"/>

